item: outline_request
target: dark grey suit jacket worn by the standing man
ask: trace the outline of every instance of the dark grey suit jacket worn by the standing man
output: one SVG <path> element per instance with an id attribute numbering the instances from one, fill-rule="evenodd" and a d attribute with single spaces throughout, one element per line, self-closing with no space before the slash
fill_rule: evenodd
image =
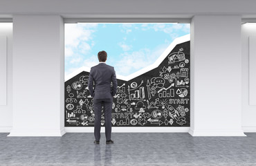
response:
<path id="1" fill-rule="evenodd" d="M 112 87 L 111 82 L 113 84 Z M 109 66 L 105 63 L 100 63 L 91 68 L 88 80 L 88 88 L 93 98 L 113 98 L 113 96 L 116 95 L 117 84 L 116 71 L 112 66 Z"/>

